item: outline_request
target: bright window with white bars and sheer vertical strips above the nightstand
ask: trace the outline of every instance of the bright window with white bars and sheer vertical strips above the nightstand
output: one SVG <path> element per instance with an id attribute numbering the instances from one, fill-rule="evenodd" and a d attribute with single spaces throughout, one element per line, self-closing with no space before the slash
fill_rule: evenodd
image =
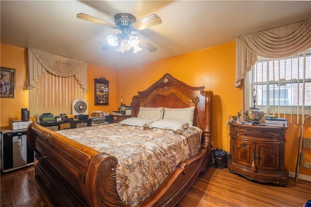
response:
<path id="1" fill-rule="evenodd" d="M 310 114 L 311 50 L 287 58 L 259 57 L 249 75 L 257 106 L 267 114 Z"/>

